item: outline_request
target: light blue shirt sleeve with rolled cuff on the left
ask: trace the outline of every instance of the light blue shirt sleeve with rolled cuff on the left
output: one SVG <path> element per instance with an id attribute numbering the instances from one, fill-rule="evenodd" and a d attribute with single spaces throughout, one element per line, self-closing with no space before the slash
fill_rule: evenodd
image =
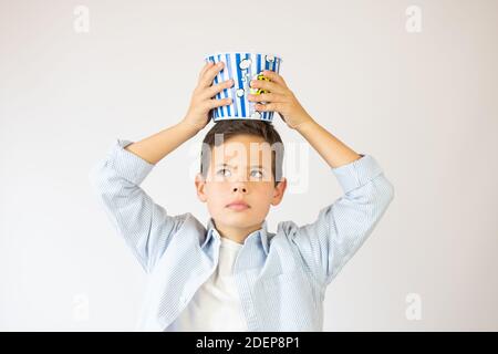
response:
<path id="1" fill-rule="evenodd" d="M 129 144 L 117 139 L 89 178 L 117 233 L 151 272 L 188 214 L 168 216 L 139 187 L 154 165 L 124 149 Z"/>

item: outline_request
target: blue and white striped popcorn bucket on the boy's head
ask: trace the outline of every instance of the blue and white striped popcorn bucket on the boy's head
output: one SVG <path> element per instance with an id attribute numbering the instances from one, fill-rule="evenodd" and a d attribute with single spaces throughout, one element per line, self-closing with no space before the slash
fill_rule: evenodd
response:
<path id="1" fill-rule="evenodd" d="M 280 71 L 282 59 L 267 53 L 251 52 L 220 52 L 205 55 L 206 62 L 224 62 L 225 66 L 216 75 L 212 84 L 234 79 L 234 85 L 218 93 L 215 98 L 230 97 L 232 103 L 211 111 L 212 121 L 225 119 L 257 119 L 272 122 L 274 112 L 258 112 L 255 102 L 247 100 L 247 95 L 258 94 L 259 91 L 250 87 L 251 80 L 268 80 L 259 75 L 263 70 Z M 259 77 L 258 77 L 259 75 Z"/>

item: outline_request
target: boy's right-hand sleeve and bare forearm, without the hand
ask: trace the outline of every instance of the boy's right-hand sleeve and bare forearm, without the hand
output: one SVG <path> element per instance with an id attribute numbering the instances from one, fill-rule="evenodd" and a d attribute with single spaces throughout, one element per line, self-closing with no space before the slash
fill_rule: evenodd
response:
<path id="1" fill-rule="evenodd" d="M 393 185 L 370 155 L 357 155 L 314 121 L 297 131 L 331 166 L 344 195 L 320 210 L 317 220 L 297 228 L 294 242 L 312 254 L 329 284 L 372 233 L 394 197 Z"/>

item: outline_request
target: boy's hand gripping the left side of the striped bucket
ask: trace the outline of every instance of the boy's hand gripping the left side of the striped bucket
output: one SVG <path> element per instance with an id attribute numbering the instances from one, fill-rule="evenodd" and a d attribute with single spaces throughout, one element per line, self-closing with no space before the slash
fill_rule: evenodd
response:
<path id="1" fill-rule="evenodd" d="M 222 62 L 218 64 L 220 65 L 215 65 L 212 62 L 209 62 L 204 65 L 199 74 L 197 87 L 191 95 L 190 106 L 185 118 L 181 121 L 196 132 L 201 131 L 209 123 L 209 112 L 212 108 L 231 104 L 231 98 L 212 98 L 218 92 L 234 85 L 234 80 L 227 80 L 217 85 L 212 85 L 216 75 L 225 65 Z"/>

